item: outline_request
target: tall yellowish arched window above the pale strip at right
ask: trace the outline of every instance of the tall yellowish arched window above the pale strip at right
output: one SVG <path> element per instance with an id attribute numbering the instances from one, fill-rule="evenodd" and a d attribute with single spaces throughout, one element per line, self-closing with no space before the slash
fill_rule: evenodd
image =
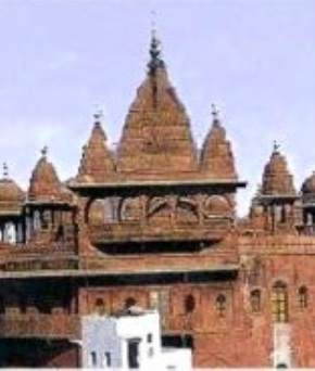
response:
<path id="1" fill-rule="evenodd" d="M 275 322 L 288 322 L 288 290 L 286 283 L 278 281 L 272 293 L 273 318 Z"/>

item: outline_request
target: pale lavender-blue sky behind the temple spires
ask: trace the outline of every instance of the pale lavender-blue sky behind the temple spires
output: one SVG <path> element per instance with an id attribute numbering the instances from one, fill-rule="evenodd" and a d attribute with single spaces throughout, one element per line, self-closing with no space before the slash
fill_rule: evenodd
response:
<path id="1" fill-rule="evenodd" d="M 211 104 L 248 210 L 273 142 L 299 190 L 315 170 L 314 0 L 0 0 L 0 163 L 25 189 L 48 145 L 73 177 L 92 114 L 112 146 L 146 75 L 152 11 L 171 80 L 201 145 Z"/>

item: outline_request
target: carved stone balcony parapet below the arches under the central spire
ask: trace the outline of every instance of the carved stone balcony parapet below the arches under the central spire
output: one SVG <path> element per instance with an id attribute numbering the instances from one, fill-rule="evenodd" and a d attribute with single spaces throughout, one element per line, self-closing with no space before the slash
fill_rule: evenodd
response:
<path id="1" fill-rule="evenodd" d="M 139 222 L 109 223 L 90 226 L 92 244 L 142 243 L 159 241 L 219 241 L 231 228 L 230 219 L 213 218 L 206 223 L 163 223 Z"/>

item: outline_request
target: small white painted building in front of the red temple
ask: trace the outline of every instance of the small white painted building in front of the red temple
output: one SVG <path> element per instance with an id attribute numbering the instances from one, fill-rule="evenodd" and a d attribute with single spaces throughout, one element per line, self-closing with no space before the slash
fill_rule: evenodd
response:
<path id="1" fill-rule="evenodd" d="M 189 348 L 162 348 L 160 315 L 131 307 L 117 316 L 83 317 L 84 368 L 191 370 Z"/>

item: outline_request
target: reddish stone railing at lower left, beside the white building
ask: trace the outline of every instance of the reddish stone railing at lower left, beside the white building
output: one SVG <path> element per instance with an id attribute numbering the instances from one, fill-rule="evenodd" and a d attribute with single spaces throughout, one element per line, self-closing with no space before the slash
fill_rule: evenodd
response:
<path id="1" fill-rule="evenodd" d="M 75 315 L 1 315 L 0 337 L 80 337 L 80 321 Z"/>

